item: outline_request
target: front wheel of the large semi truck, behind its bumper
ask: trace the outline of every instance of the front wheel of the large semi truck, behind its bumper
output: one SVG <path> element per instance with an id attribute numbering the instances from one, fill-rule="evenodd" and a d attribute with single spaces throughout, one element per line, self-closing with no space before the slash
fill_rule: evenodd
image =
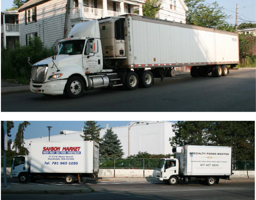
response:
<path id="1" fill-rule="evenodd" d="M 71 76 L 65 88 L 66 95 L 69 98 L 79 98 L 84 94 L 84 81 L 79 76 Z"/>

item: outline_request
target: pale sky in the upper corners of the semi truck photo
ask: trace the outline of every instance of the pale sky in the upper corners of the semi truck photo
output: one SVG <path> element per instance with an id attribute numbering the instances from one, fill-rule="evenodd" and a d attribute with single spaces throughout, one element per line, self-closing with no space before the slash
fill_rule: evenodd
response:
<path id="1" fill-rule="evenodd" d="M 223 7 L 223 12 L 227 15 L 231 15 L 227 20 L 228 23 L 235 23 L 236 4 L 238 4 L 238 16 L 243 19 L 238 20 L 238 24 L 242 22 L 251 21 L 256 22 L 256 2 L 255 0 L 206 0 L 205 2 L 212 4 L 217 2 L 219 7 Z M 13 0 L 1 0 L 1 11 L 5 11 L 6 8 L 11 8 Z"/>

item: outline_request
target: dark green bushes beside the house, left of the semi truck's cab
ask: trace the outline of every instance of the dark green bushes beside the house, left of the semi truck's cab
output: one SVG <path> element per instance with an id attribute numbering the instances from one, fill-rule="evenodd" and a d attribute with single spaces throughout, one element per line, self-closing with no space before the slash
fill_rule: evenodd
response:
<path id="1" fill-rule="evenodd" d="M 29 44 L 21 46 L 18 42 L 15 49 L 1 49 L 1 78 L 18 79 L 18 83 L 29 83 L 31 66 L 27 62 L 30 57 L 30 63 L 34 64 L 44 58 L 56 55 L 52 48 L 44 47 L 40 37 L 29 38 Z"/>

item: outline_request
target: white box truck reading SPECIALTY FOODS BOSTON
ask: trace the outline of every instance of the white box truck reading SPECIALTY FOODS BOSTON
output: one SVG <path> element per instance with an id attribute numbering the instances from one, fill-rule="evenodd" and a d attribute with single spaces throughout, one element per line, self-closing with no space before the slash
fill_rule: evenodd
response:
<path id="1" fill-rule="evenodd" d="M 157 167 L 156 178 L 166 184 L 198 180 L 214 185 L 232 175 L 231 146 L 185 145 L 174 147 L 172 153 L 176 158 L 163 158 Z"/>

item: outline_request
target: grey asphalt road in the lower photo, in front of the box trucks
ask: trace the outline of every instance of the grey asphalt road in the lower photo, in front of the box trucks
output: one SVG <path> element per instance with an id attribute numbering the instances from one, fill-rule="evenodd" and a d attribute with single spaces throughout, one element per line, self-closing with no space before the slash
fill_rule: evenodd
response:
<path id="1" fill-rule="evenodd" d="M 67 185 L 74 187 L 75 185 Z M 81 185 L 82 186 L 82 185 Z M 84 184 L 88 187 L 88 184 Z M 55 194 L 1 194 L 2 200 L 254 200 L 254 182 L 222 182 L 208 186 L 199 183 L 165 185 L 163 182 L 97 182 L 89 187 L 93 193 Z M 49 186 L 50 190 L 50 186 Z"/>

